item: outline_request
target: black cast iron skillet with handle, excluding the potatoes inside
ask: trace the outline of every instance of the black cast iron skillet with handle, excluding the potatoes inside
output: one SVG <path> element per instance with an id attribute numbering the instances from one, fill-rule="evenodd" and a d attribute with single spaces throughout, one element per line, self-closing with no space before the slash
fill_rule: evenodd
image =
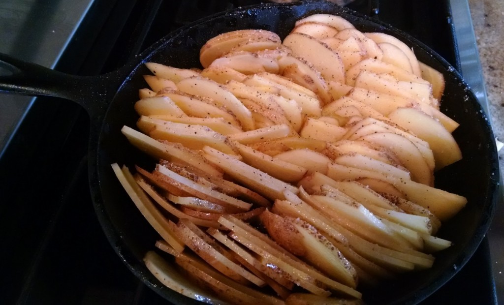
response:
<path id="1" fill-rule="evenodd" d="M 149 287 L 174 303 L 191 303 L 194 301 L 161 285 L 145 268 L 142 257 L 154 248 L 157 234 L 121 189 L 110 167 L 113 162 L 130 168 L 134 164 L 153 164 L 120 133 L 123 125 L 134 127 L 138 118 L 133 104 L 138 99 L 138 89 L 146 87 L 142 75 L 149 74 L 143 63 L 200 67 L 199 48 L 217 34 L 257 28 L 277 32 L 283 38 L 295 20 L 315 13 L 341 15 L 362 31 L 392 34 L 412 46 L 419 60 L 445 75 L 446 91 L 441 109 L 460 123 L 454 137 L 464 158 L 438 171 L 435 185 L 468 199 L 467 206 L 439 231 L 439 236 L 452 240 L 454 246 L 436 254 L 431 269 L 364 291 L 364 300 L 369 303 L 417 303 L 455 275 L 478 247 L 499 198 L 499 172 L 494 137 L 476 97 L 442 57 L 407 34 L 327 2 L 260 5 L 218 14 L 183 27 L 120 70 L 98 77 L 65 75 L 1 55 L 2 67 L 12 74 L 0 77 L 0 90 L 62 97 L 86 108 L 92 122 L 89 184 L 105 234 L 121 260 Z"/>

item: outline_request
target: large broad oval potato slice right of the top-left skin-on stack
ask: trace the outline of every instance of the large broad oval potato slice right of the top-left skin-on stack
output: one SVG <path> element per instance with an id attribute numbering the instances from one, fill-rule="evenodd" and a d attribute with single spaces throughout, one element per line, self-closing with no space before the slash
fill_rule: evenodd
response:
<path id="1" fill-rule="evenodd" d="M 327 44 L 302 33 L 287 35 L 283 44 L 290 47 L 295 55 L 311 63 L 326 81 L 345 81 L 343 62 L 338 53 L 334 52 Z"/>

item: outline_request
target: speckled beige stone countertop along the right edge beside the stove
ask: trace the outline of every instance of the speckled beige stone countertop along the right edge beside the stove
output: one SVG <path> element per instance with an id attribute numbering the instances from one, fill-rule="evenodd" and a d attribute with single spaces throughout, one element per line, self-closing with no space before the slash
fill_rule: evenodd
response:
<path id="1" fill-rule="evenodd" d="M 476 43 L 479 49 L 485 87 L 489 102 L 489 114 L 495 136 L 504 142 L 504 1 L 469 0 Z M 500 172 L 504 173 L 504 148 L 499 151 Z M 488 231 L 494 247 L 491 264 L 497 291 L 504 291 L 504 207 L 497 207 L 494 221 Z M 504 295 L 498 295 L 499 304 L 504 304 Z"/>

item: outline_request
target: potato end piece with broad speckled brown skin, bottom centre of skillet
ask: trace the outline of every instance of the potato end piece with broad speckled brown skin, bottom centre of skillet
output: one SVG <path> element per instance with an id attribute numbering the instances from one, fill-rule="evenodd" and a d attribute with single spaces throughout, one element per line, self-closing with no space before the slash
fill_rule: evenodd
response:
<path id="1" fill-rule="evenodd" d="M 305 221 L 265 211 L 261 221 L 283 248 L 301 256 L 332 279 L 355 288 L 356 271 L 337 248 Z"/>

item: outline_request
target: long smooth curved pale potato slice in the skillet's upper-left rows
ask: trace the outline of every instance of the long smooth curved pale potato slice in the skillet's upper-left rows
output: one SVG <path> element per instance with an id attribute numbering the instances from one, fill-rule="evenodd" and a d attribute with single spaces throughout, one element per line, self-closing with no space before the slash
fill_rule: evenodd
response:
<path id="1" fill-rule="evenodd" d="M 254 129 L 254 120 L 250 111 L 218 83 L 204 78 L 187 78 L 178 82 L 177 87 L 180 91 L 213 99 L 236 116 L 243 130 Z"/>

